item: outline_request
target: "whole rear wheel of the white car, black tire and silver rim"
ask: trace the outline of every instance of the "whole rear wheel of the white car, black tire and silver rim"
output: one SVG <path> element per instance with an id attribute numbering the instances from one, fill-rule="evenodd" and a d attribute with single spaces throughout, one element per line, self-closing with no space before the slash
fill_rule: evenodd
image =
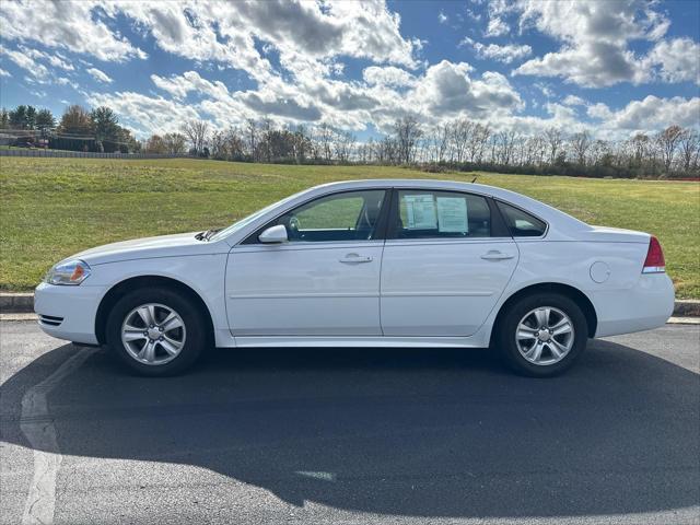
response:
<path id="1" fill-rule="evenodd" d="M 538 293 L 520 299 L 495 328 L 497 345 L 515 372 L 549 377 L 569 369 L 585 349 L 586 317 L 571 299 Z"/>

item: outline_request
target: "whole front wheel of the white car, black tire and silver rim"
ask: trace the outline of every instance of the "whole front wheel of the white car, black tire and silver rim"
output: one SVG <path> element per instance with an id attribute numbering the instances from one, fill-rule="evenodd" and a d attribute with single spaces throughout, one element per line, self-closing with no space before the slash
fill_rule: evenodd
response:
<path id="1" fill-rule="evenodd" d="M 202 312 L 166 288 L 135 290 L 112 308 L 107 345 L 142 375 L 174 375 L 191 366 L 207 345 Z"/>

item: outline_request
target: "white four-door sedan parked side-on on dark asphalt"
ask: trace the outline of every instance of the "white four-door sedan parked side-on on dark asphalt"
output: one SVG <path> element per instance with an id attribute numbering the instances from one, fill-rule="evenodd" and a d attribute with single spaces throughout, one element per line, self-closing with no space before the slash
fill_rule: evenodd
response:
<path id="1" fill-rule="evenodd" d="M 358 180 L 233 225 L 127 241 L 54 266 L 47 334 L 107 345 L 145 375 L 217 347 L 491 347 L 517 372 L 569 368 L 590 337 L 662 326 L 655 237 L 592 226 L 500 188 Z"/>

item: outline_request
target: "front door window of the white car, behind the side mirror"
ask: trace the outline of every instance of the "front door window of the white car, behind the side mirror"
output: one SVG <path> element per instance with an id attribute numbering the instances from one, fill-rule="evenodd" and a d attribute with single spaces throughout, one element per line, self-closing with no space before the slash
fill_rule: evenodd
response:
<path id="1" fill-rule="evenodd" d="M 384 189 L 346 191 L 313 200 L 284 213 L 290 242 L 371 241 L 376 238 Z"/>

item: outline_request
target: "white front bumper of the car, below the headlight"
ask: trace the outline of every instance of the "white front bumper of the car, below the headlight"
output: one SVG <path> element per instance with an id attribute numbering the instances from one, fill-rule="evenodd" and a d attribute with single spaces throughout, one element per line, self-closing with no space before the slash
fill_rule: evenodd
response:
<path id="1" fill-rule="evenodd" d="M 34 312 L 49 336 L 97 345 L 95 317 L 105 290 L 102 287 L 61 287 L 40 283 L 34 291 Z"/>

